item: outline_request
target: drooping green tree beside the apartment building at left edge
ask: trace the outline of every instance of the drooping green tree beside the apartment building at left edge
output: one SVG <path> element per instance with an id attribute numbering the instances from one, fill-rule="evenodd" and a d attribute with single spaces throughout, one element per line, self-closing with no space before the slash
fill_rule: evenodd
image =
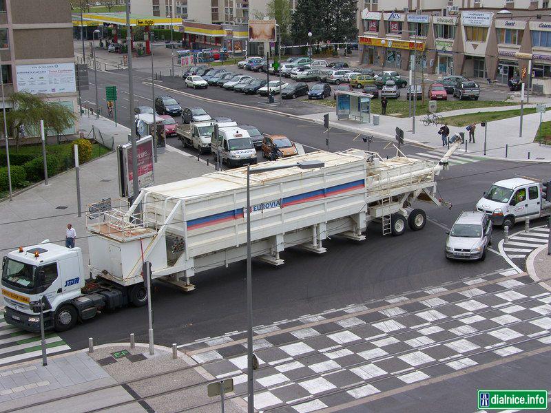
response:
<path id="1" fill-rule="evenodd" d="M 26 131 L 40 127 L 44 121 L 45 131 L 53 131 L 60 135 L 67 127 L 73 125 L 75 114 L 66 106 L 58 102 L 47 102 L 37 95 L 28 92 L 14 92 L 8 96 L 14 109 L 6 112 L 8 134 L 15 137 L 16 149 L 19 149 L 21 140 L 21 125 Z M 3 131 L 3 118 L 0 117 L 0 127 Z"/>

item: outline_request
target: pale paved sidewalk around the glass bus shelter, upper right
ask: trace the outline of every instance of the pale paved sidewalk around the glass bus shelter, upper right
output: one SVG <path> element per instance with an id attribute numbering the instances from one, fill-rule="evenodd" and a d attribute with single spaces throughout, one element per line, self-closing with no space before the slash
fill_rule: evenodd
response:
<path id="1" fill-rule="evenodd" d="M 534 105 L 525 105 L 525 107 L 534 107 Z M 508 109 L 517 109 L 517 106 L 507 107 L 489 107 L 479 109 L 461 109 L 450 112 L 441 112 L 443 117 L 456 116 L 461 114 L 494 112 Z M 372 123 L 360 124 L 354 120 L 338 120 L 335 109 L 328 108 L 329 120 L 331 125 L 355 132 L 357 134 L 375 135 L 395 142 L 395 129 L 399 127 L 404 130 L 404 140 L 407 143 L 413 143 L 426 149 L 439 149 L 442 147 L 442 140 L 437 133 L 439 127 L 435 125 L 424 126 L 422 118 L 424 115 L 415 118 L 415 134 L 412 131 L 412 118 L 396 118 L 395 116 L 380 115 L 380 125 L 374 126 Z M 302 116 L 302 118 L 314 120 L 316 123 L 323 124 L 323 114 L 311 114 Z M 373 116 L 372 116 L 373 118 Z M 543 114 L 543 121 L 551 120 L 551 112 Z M 551 161 L 551 147 L 534 143 L 534 137 L 539 128 L 539 114 L 534 113 L 523 116 L 523 136 L 519 137 L 520 116 L 502 120 L 495 120 L 488 123 L 488 136 L 486 142 L 486 156 L 488 158 L 507 159 L 507 160 L 530 160 Z M 465 127 L 450 127 L 450 136 L 457 132 L 465 132 L 468 138 L 468 131 Z M 482 156 L 484 153 L 484 128 L 480 125 L 476 129 L 476 143 L 467 144 L 467 153 L 476 156 Z M 468 139 L 467 139 L 468 140 Z M 506 158 L 506 145 L 507 158 Z M 457 150 L 457 153 L 465 153 L 465 146 Z"/>

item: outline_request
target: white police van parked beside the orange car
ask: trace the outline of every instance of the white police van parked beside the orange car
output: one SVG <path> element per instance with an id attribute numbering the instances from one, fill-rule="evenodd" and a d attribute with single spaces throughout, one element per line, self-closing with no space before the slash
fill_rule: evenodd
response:
<path id="1" fill-rule="evenodd" d="M 218 127 L 218 136 L 212 133 L 211 152 L 214 162 L 220 156 L 221 162 L 229 167 L 254 165 L 257 162 L 249 132 L 236 126 Z"/>

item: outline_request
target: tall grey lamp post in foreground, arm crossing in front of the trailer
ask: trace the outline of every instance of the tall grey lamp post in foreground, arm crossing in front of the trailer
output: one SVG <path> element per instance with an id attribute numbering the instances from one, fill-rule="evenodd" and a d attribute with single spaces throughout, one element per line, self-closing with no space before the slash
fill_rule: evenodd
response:
<path id="1" fill-rule="evenodd" d="M 253 387 L 253 282 L 251 274 L 251 173 L 262 173 L 298 167 L 300 169 L 319 169 L 325 166 L 319 160 L 304 160 L 291 164 L 275 162 L 279 165 L 271 167 L 255 167 L 247 165 L 247 412 L 254 412 Z"/>

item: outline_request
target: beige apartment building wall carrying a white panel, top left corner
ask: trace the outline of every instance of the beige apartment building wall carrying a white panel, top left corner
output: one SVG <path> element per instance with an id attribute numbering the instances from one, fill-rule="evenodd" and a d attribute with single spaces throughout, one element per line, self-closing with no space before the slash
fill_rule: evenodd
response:
<path id="1" fill-rule="evenodd" d="M 6 96 L 27 91 L 78 112 L 72 32 L 67 0 L 0 0 L 0 59 Z M 76 125 L 65 134 L 75 131 Z"/>

